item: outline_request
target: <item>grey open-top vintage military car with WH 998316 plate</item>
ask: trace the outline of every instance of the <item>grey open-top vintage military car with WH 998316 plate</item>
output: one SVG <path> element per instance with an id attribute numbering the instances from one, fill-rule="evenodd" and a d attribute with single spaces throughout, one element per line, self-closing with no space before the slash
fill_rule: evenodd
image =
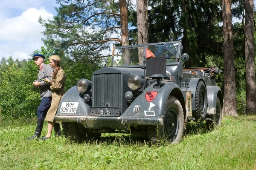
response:
<path id="1" fill-rule="evenodd" d="M 101 133 L 131 133 L 177 143 L 190 120 L 220 125 L 220 70 L 183 69 L 189 56 L 181 49 L 181 41 L 114 47 L 109 66 L 63 96 L 55 120 L 64 135 L 81 142 Z"/>

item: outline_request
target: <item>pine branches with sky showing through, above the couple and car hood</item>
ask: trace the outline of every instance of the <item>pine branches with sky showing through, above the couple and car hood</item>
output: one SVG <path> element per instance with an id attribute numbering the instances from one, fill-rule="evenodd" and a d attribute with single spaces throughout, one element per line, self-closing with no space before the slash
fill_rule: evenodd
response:
<path id="1" fill-rule="evenodd" d="M 100 58 L 109 49 L 109 42 L 121 42 L 119 36 L 119 3 L 112 0 L 57 0 L 58 14 L 51 21 L 39 18 L 46 27 L 44 43 L 61 57 L 66 73 L 66 86 L 76 85 L 79 78 L 91 79 L 101 67 Z"/>

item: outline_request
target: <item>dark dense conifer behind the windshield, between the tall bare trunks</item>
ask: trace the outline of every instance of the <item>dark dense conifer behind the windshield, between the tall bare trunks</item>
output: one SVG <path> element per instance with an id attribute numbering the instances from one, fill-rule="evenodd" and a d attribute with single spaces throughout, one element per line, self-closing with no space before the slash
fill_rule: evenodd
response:
<path id="1" fill-rule="evenodd" d="M 205 66 L 209 56 L 222 56 L 221 1 L 149 0 L 149 42 L 182 39 L 189 54 L 186 67 Z"/>

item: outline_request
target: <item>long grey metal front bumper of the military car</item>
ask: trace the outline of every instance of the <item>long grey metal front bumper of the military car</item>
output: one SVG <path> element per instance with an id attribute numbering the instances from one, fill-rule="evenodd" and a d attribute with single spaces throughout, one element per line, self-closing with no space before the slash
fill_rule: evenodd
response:
<path id="1" fill-rule="evenodd" d="M 114 130 L 130 130 L 131 125 L 163 125 L 163 118 L 56 115 L 55 121 L 77 122 L 83 124 L 87 129 L 101 129 L 103 127 L 110 127 Z"/>

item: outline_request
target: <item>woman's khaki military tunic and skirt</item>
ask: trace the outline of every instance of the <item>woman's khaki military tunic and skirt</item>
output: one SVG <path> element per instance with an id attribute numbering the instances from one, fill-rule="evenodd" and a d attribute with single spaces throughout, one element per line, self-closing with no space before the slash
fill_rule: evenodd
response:
<path id="1" fill-rule="evenodd" d="M 63 97 L 65 93 L 65 81 L 66 81 L 66 75 L 63 69 L 59 69 L 56 77 L 51 82 L 51 90 L 52 90 L 52 104 L 50 109 L 47 112 L 46 121 L 53 122 L 54 117 L 56 115 L 56 112 L 58 110 L 58 105 L 60 104 L 61 98 Z"/>

